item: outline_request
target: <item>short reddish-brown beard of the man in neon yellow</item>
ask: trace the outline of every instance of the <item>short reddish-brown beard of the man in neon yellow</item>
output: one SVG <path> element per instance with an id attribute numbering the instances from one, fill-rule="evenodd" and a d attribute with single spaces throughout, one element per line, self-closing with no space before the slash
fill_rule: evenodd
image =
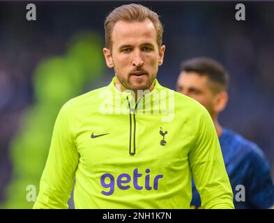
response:
<path id="1" fill-rule="evenodd" d="M 153 84 L 157 75 L 157 70 L 155 70 L 153 74 L 149 74 L 149 72 L 147 72 L 143 68 L 136 68 L 135 70 L 129 72 L 126 76 L 119 74 L 119 72 L 117 72 L 115 68 L 114 71 L 116 77 L 119 79 L 119 82 L 122 85 L 121 87 L 135 92 L 137 92 L 138 90 L 148 90 Z M 144 74 L 138 77 L 132 74 L 134 72 L 143 72 Z"/>

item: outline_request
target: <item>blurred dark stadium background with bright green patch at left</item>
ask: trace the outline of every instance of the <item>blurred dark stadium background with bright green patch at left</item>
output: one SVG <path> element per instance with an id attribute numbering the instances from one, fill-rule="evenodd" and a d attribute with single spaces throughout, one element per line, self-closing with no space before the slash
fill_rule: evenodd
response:
<path id="1" fill-rule="evenodd" d="M 0 2 L 0 208 L 31 208 L 56 115 L 68 99 L 108 84 L 102 57 L 105 16 L 123 2 L 41 2 L 36 21 L 26 3 Z M 274 2 L 142 1 L 161 15 L 167 46 L 158 72 L 174 89 L 180 63 L 211 56 L 231 75 L 222 125 L 255 141 L 274 174 Z"/>

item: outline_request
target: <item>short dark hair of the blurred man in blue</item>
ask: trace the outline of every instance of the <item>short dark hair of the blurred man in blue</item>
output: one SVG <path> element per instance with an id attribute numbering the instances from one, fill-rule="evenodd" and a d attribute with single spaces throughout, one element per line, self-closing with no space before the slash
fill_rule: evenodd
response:
<path id="1" fill-rule="evenodd" d="M 227 91 L 229 86 L 229 74 L 221 63 L 208 57 L 195 57 L 181 63 L 181 71 L 197 72 L 205 75 L 213 84 L 211 88 L 215 92 Z"/>

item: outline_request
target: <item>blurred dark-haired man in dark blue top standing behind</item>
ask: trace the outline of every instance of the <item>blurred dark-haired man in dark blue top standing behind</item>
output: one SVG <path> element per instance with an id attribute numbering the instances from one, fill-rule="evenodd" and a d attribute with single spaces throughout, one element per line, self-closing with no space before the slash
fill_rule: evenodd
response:
<path id="1" fill-rule="evenodd" d="M 274 186 L 263 152 L 218 122 L 218 115 L 227 105 L 228 83 L 228 73 L 220 63 L 209 58 L 194 58 L 182 63 L 176 89 L 200 102 L 211 114 L 234 191 L 235 208 L 270 208 L 274 205 Z M 194 183 L 192 191 L 192 205 L 199 207 L 200 198 Z"/>

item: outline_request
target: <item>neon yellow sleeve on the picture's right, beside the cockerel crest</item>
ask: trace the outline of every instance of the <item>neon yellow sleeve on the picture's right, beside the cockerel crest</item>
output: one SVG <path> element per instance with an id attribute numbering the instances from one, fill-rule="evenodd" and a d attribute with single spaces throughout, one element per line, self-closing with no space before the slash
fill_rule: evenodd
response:
<path id="1" fill-rule="evenodd" d="M 233 193 L 217 133 L 208 112 L 204 110 L 197 122 L 195 145 L 189 161 L 202 208 L 234 208 Z"/>

